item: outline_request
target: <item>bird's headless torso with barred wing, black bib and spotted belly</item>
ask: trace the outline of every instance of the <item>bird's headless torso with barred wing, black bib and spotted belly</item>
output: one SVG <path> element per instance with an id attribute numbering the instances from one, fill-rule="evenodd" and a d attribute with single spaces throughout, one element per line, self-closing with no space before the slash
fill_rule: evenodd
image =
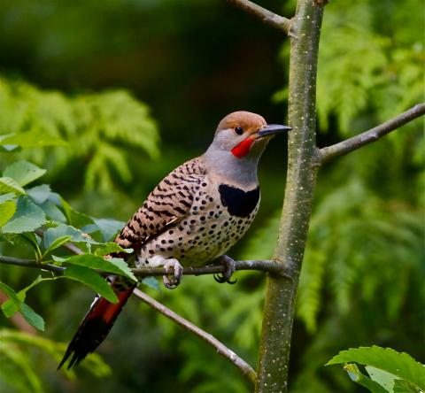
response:
<path id="1" fill-rule="evenodd" d="M 138 266 L 158 266 L 164 258 L 205 265 L 244 235 L 258 209 L 259 187 L 220 183 L 194 158 L 151 192 L 121 231 L 120 244 L 139 244 Z"/>

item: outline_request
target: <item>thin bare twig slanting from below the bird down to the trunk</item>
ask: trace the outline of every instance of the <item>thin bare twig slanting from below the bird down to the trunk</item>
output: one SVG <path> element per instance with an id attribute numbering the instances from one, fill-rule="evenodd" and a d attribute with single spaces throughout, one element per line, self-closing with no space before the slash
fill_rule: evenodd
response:
<path id="1" fill-rule="evenodd" d="M 141 290 L 135 289 L 134 294 L 135 297 L 138 297 L 144 303 L 149 304 L 152 308 L 165 315 L 166 318 L 173 320 L 177 325 L 180 325 L 182 328 L 189 330 L 190 333 L 197 335 L 199 338 L 202 338 L 206 343 L 212 345 L 217 350 L 217 353 L 220 353 L 222 357 L 227 358 L 231 363 L 233 363 L 242 371 L 243 375 L 248 380 L 255 384 L 255 382 L 257 381 L 257 374 L 255 373 L 253 368 L 242 358 L 239 358 L 235 352 L 230 351 L 228 347 L 226 347 L 226 345 L 220 343 L 220 341 L 213 337 L 213 335 L 206 333 L 201 328 L 197 328 L 197 326 L 189 322 L 189 320 L 185 320 L 180 315 L 167 308 L 164 304 L 159 303 L 154 298 L 143 293 Z"/>

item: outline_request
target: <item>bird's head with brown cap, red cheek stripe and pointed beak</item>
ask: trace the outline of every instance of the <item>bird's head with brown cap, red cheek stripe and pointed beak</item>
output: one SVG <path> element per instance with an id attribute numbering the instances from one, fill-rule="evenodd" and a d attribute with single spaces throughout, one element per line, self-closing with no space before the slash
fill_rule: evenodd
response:
<path id="1" fill-rule="evenodd" d="M 267 125 L 256 113 L 233 112 L 220 121 L 212 146 L 238 159 L 259 158 L 273 135 L 290 129 L 278 124 Z"/>

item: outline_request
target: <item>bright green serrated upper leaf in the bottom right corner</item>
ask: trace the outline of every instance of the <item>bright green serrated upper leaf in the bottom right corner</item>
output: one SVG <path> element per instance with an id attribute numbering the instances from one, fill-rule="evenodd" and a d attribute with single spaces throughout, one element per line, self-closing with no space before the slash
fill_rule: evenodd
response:
<path id="1" fill-rule="evenodd" d="M 405 352 L 400 353 L 390 348 L 381 348 L 376 345 L 352 348 L 348 351 L 339 352 L 338 355 L 328 361 L 327 366 L 347 362 L 374 366 L 413 383 L 419 389 L 425 390 L 425 367 Z"/>

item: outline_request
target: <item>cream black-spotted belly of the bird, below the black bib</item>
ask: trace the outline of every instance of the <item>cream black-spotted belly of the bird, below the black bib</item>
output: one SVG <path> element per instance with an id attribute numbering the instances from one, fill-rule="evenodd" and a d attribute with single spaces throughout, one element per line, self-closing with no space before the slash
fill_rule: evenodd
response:
<path id="1" fill-rule="evenodd" d="M 206 212 L 198 211 L 172 229 L 144 244 L 139 266 L 150 265 L 150 258 L 176 258 L 182 266 L 203 266 L 223 255 L 251 226 L 259 204 L 246 217 L 230 215 L 222 205 Z M 158 258 L 153 258 L 158 260 Z"/>

